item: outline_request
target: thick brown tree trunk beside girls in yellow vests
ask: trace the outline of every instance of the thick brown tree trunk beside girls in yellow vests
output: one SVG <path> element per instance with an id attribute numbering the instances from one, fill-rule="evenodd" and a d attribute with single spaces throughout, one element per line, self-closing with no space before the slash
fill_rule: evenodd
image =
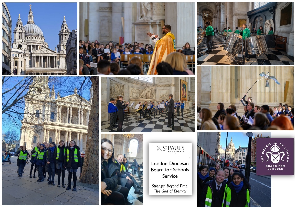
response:
<path id="1" fill-rule="evenodd" d="M 99 77 L 91 77 L 90 80 L 92 82 L 93 98 L 80 182 L 99 184 Z"/>

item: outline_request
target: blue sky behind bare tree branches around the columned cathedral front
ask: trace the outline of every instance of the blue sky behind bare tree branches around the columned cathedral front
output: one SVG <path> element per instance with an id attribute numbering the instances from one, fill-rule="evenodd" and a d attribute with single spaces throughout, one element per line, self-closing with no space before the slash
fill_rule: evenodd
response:
<path id="1" fill-rule="evenodd" d="M 10 77 L 9 81 L 5 82 L 4 85 L 2 85 L 2 92 L 9 90 L 22 79 L 23 77 Z M 84 83 L 84 87 L 80 89 L 79 87 L 81 87 L 81 84 L 84 80 L 86 80 Z M 92 85 L 91 81 L 89 81 L 89 77 L 86 77 L 86 79 L 85 77 L 49 77 L 49 83 L 48 83 L 49 88 L 52 89 L 53 85 L 55 90 L 55 98 L 57 97 L 58 92 L 60 92 L 61 97 L 71 95 L 74 93 L 75 87 L 77 87 L 78 94 L 81 95 L 83 98 L 85 98 L 87 101 L 89 101 L 89 98 L 90 98 L 89 90 Z M 11 94 L 13 94 L 14 91 L 15 90 L 12 90 Z M 10 93 L 5 95 L 9 97 L 12 96 L 10 95 Z M 13 100 L 14 98 L 10 102 L 12 102 Z M 2 101 L 3 101 L 3 96 L 2 96 Z M 13 107 L 12 109 L 17 110 L 16 107 Z M 21 113 L 22 112 L 23 110 L 21 111 Z M 2 120 L 3 119 L 8 120 L 7 117 L 8 115 L 3 114 Z M 17 120 L 17 123 L 20 125 L 21 124 L 20 120 Z M 20 127 L 15 126 L 11 121 L 9 122 L 9 124 L 6 124 L 6 125 L 2 121 L 1 125 L 2 125 L 2 133 L 5 133 L 7 130 L 16 130 L 18 134 L 20 133 Z"/>

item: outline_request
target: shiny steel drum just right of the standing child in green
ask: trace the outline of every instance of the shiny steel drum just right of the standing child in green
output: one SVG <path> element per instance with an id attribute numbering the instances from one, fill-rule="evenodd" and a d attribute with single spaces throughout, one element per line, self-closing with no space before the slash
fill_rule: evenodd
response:
<path id="1" fill-rule="evenodd" d="M 248 54 L 263 54 L 268 52 L 266 41 L 263 35 L 256 35 L 246 39 Z"/>

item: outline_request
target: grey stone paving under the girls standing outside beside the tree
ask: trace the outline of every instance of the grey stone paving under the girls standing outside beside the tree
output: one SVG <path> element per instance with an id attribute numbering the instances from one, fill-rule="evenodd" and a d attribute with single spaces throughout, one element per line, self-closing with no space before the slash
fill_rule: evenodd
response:
<path id="1" fill-rule="evenodd" d="M 46 180 L 36 182 L 36 178 L 30 178 L 31 163 L 26 164 L 21 178 L 17 174 L 17 157 L 11 158 L 11 165 L 5 162 L 2 165 L 2 205 L 99 205 L 98 185 L 95 189 L 86 187 L 90 184 L 79 183 L 80 169 L 77 172 L 77 190 L 65 190 L 57 187 L 58 175 L 55 175 L 53 185 L 48 185 L 48 173 Z M 34 172 L 34 169 L 33 169 Z M 65 186 L 68 184 L 68 171 L 65 170 Z M 73 180 L 72 180 L 73 188 Z"/>

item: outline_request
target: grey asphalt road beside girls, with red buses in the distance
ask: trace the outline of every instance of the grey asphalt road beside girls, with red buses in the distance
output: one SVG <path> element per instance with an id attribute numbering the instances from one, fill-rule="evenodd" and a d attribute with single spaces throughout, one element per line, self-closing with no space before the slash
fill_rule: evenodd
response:
<path id="1" fill-rule="evenodd" d="M 236 168 L 229 167 L 236 170 Z M 245 175 L 245 170 L 242 172 Z M 250 172 L 251 206 L 271 206 L 271 176 L 259 176 Z"/>

